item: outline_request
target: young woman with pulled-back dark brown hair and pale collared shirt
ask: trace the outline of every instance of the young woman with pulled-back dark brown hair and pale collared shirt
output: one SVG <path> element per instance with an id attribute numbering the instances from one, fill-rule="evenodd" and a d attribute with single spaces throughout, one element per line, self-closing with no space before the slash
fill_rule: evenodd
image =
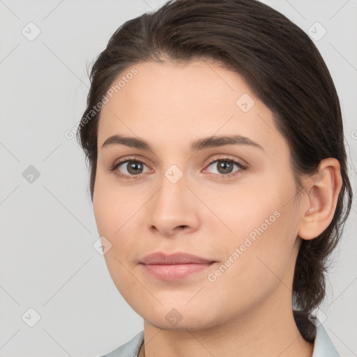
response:
<path id="1" fill-rule="evenodd" d="M 312 312 L 352 191 L 335 86 L 298 26 L 255 0 L 130 20 L 78 135 L 109 273 L 144 318 L 107 357 L 338 356 Z"/>

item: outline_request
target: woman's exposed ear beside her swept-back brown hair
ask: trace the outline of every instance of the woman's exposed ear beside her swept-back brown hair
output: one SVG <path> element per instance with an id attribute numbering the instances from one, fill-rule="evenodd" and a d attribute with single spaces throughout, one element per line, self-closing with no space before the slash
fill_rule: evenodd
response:
<path id="1" fill-rule="evenodd" d="M 306 199 L 301 204 L 298 236 L 310 240 L 330 225 L 342 187 L 340 162 L 335 158 L 321 160 L 319 171 L 305 185 Z"/>

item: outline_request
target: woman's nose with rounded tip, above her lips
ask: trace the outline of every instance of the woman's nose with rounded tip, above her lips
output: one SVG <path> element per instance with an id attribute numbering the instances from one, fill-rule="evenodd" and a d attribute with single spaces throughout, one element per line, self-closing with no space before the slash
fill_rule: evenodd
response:
<path id="1" fill-rule="evenodd" d="M 202 208 L 187 183 L 185 175 L 176 183 L 162 175 L 160 188 L 145 205 L 146 224 L 151 231 L 169 237 L 199 229 L 199 212 Z"/>

